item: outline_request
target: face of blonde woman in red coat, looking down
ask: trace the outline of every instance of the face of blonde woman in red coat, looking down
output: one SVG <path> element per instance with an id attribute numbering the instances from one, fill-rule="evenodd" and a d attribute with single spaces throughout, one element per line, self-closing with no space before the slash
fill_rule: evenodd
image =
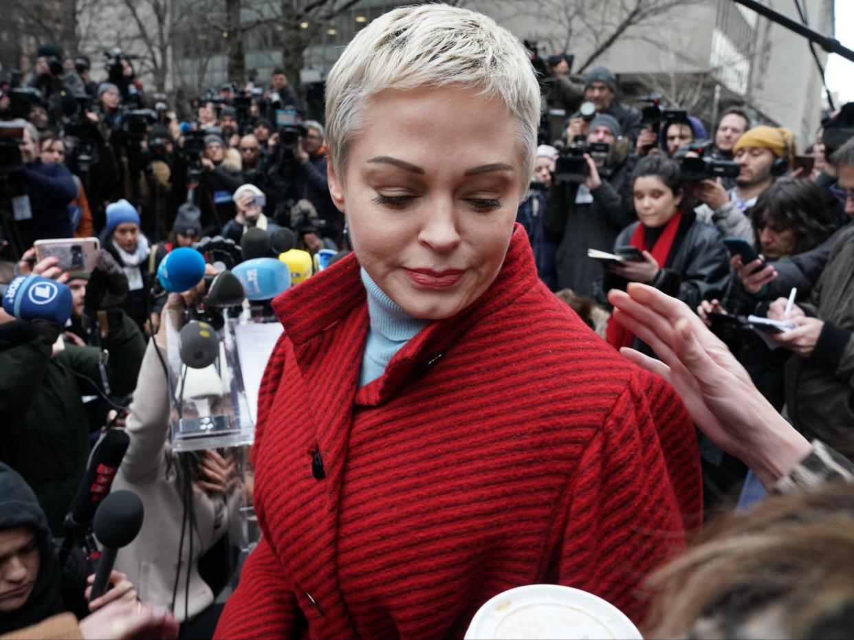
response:
<path id="1" fill-rule="evenodd" d="M 473 94 L 446 87 L 373 96 L 346 177 L 330 168 L 360 265 L 414 317 L 452 317 L 486 291 L 527 189 L 515 121 Z"/>

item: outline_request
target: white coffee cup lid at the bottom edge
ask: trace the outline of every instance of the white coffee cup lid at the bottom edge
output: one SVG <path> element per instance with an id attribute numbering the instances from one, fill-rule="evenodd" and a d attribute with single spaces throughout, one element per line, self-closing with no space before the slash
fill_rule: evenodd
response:
<path id="1" fill-rule="evenodd" d="M 488 600 L 465 632 L 465 640 L 500 638 L 643 637 L 622 611 L 599 596 L 561 585 L 525 585 Z"/>

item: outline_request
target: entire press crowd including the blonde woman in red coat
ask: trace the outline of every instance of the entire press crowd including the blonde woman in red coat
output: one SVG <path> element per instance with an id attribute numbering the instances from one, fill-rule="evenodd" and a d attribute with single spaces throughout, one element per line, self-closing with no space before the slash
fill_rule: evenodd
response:
<path id="1" fill-rule="evenodd" d="M 632 106 L 571 65 L 397 9 L 308 119 L 281 70 L 175 109 L 131 56 L 98 83 L 41 46 L 0 93 L 0 635 L 462 637 L 536 582 L 656 637 L 850 628 L 854 105 L 801 152 L 744 106 Z M 243 474 L 172 441 L 165 369 L 216 315 L 217 252 L 259 234 L 315 257 L 293 284 L 317 273 L 267 306 L 284 335 Z M 93 238 L 86 265 L 40 253 Z M 205 277 L 168 288 L 186 249 Z M 33 278 L 70 317 L 30 322 Z M 60 541 L 115 430 L 112 491 L 145 519 L 87 602 L 95 556 Z M 261 529 L 243 567 L 236 487 Z"/>

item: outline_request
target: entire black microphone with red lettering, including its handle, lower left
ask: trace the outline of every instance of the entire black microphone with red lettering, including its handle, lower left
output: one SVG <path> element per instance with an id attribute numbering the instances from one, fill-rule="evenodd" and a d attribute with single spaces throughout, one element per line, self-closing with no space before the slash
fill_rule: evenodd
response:
<path id="1" fill-rule="evenodd" d="M 87 553 L 97 550 L 91 541 L 86 541 L 87 532 L 92 518 L 95 517 L 98 504 L 107 497 L 110 487 L 113 486 L 115 474 L 130 444 L 131 439 L 125 431 L 110 429 L 95 445 L 83 482 L 74 496 L 71 509 L 62 525 L 65 529 L 65 538 L 59 552 L 61 563 L 65 562 L 68 553 L 79 538 L 85 540 Z"/>

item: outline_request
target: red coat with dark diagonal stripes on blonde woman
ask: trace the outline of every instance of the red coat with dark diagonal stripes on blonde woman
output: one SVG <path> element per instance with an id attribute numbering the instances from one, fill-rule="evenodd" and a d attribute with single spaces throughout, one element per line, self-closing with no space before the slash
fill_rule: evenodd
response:
<path id="1" fill-rule="evenodd" d="M 641 580 L 699 525 L 693 426 L 541 284 L 519 225 L 482 298 L 360 389 L 353 256 L 274 306 L 263 539 L 217 637 L 462 637 L 488 598 L 543 582 L 638 619 Z"/>

